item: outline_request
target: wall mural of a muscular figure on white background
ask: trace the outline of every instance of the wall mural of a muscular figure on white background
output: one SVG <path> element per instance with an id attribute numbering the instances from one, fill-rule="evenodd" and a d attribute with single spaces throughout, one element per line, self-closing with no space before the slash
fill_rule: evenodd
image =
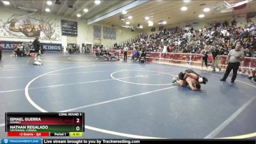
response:
<path id="1" fill-rule="evenodd" d="M 14 14 L 7 19 L 0 17 L 0 36 L 61 40 L 60 20 L 31 15 Z"/>

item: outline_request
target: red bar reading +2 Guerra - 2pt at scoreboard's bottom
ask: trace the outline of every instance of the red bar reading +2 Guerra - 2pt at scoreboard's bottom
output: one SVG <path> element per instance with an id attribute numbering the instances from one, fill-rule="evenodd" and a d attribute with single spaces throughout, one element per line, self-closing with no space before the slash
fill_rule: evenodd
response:
<path id="1" fill-rule="evenodd" d="M 7 132 L 7 136 L 50 136 L 50 132 Z"/>

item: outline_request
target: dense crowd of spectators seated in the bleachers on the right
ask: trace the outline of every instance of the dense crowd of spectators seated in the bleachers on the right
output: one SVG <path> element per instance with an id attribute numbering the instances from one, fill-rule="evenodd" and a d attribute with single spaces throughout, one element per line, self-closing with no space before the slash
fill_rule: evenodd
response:
<path id="1" fill-rule="evenodd" d="M 211 54 L 214 49 L 220 51 L 220 55 L 227 55 L 236 45 L 242 42 L 244 56 L 252 57 L 256 51 L 256 25 L 248 20 L 245 26 L 237 26 L 236 20 L 228 24 L 227 21 L 220 24 L 213 22 L 211 26 L 202 29 L 164 29 L 160 33 L 148 35 L 141 33 L 138 38 L 124 42 L 123 45 L 114 44 L 113 49 L 124 49 L 127 45 L 130 51 L 152 52 L 183 52 L 202 54 L 202 50 Z"/>

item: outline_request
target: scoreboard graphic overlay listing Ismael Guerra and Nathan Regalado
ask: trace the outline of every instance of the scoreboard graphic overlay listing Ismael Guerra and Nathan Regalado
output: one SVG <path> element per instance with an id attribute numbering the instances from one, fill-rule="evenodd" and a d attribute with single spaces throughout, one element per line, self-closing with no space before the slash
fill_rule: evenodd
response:
<path id="1" fill-rule="evenodd" d="M 83 136 L 84 113 L 5 113 L 7 136 Z"/>

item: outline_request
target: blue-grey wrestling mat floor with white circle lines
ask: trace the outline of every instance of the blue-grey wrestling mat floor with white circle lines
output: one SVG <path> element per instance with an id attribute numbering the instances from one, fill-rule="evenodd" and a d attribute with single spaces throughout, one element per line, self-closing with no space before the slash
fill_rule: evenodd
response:
<path id="1" fill-rule="evenodd" d="M 256 85 L 238 75 L 194 69 L 202 91 L 172 84 L 186 67 L 104 61 L 90 54 L 46 52 L 0 62 L 0 138 L 6 112 L 84 112 L 84 138 L 255 138 Z M 193 68 L 192 68 L 193 69 Z M 232 76 L 232 74 L 230 74 Z"/>

